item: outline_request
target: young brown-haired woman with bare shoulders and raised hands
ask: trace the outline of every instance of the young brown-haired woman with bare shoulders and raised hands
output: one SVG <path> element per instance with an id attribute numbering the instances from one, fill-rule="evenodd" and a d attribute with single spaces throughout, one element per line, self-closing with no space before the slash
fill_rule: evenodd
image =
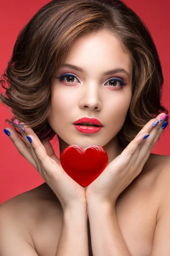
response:
<path id="1" fill-rule="evenodd" d="M 45 183 L 1 204 L 0 255 L 169 255 L 170 157 L 151 154 L 168 111 L 142 20 L 119 0 L 53 0 L 20 32 L 5 79 L 14 130 L 4 131 Z M 83 117 L 100 131 L 79 130 Z M 107 151 L 87 187 L 62 169 L 56 134 L 60 156 L 69 145 Z"/>

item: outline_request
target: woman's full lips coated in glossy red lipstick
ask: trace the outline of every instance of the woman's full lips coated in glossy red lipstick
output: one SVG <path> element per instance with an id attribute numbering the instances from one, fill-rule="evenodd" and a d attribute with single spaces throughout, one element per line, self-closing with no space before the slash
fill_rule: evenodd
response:
<path id="1" fill-rule="evenodd" d="M 92 123 L 98 126 L 82 125 L 82 123 Z M 100 131 L 103 127 L 102 123 L 96 118 L 83 117 L 74 122 L 74 127 L 85 134 L 94 134 Z"/>

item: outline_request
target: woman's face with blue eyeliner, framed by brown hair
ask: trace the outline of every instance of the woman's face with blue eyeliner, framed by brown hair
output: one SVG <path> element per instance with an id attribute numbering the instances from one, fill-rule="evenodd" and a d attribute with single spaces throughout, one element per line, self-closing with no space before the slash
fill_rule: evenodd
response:
<path id="1" fill-rule="evenodd" d="M 63 151 L 69 145 L 82 148 L 89 145 L 116 146 L 116 134 L 125 122 L 132 96 L 130 56 L 111 32 L 101 30 L 79 38 L 65 64 L 76 65 L 86 72 L 62 67 L 55 74 L 57 77 L 69 74 L 61 81 L 54 79 L 48 116 L 51 128 L 58 135 L 60 148 Z M 126 70 L 129 77 L 123 72 L 104 75 L 115 68 Z M 109 81 L 115 78 L 119 81 Z M 123 86 L 121 81 L 127 84 Z M 73 123 L 82 117 L 98 119 L 102 129 L 94 134 L 77 131 Z"/>

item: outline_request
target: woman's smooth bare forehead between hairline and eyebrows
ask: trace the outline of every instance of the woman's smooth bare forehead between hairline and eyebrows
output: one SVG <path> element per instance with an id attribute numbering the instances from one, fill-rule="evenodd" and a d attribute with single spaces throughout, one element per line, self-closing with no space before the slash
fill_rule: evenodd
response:
<path id="1" fill-rule="evenodd" d="M 82 67 L 86 75 L 91 68 L 108 71 L 116 67 L 132 72 L 130 55 L 124 51 L 122 43 L 113 35 L 112 32 L 101 30 L 84 35 L 75 41 L 71 47 L 65 63 Z"/>

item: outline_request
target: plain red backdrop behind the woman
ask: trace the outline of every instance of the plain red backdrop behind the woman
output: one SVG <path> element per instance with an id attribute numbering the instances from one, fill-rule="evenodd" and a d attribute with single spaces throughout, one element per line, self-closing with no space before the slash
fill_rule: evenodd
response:
<path id="1" fill-rule="evenodd" d="M 8 0 L 0 3 L 0 76 L 6 68 L 12 54 L 17 35 L 23 26 L 48 0 Z M 169 0 L 124 0 L 149 28 L 161 60 L 164 86 L 162 104 L 170 109 L 170 1 Z M 2 88 L 0 92 L 4 92 Z M 8 127 L 6 118 L 11 118 L 11 113 L 0 103 L 0 204 L 8 199 L 40 186 L 44 180 L 37 170 L 20 155 L 12 141 L 4 133 Z M 152 153 L 170 155 L 170 133 L 167 129 L 156 143 Z M 59 157 L 58 140 L 52 141 L 54 151 Z"/>

